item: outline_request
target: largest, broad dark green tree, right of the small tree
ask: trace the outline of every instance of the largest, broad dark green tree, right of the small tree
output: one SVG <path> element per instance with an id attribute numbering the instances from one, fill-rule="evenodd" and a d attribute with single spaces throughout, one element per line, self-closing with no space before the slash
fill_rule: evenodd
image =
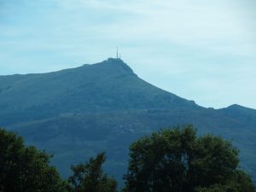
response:
<path id="1" fill-rule="evenodd" d="M 196 137 L 192 125 L 156 131 L 131 144 L 124 190 L 255 191 L 238 164 L 238 150 L 222 137 Z"/>

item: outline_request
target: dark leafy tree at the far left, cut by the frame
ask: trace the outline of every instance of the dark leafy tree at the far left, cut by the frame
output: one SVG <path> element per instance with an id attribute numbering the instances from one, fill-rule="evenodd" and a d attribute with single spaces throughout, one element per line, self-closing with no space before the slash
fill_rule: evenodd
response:
<path id="1" fill-rule="evenodd" d="M 55 167 L 49 166 L 50 155 L 35 147 L 25 147 L 14 132 L 0 129 L 0 191 L 65 191 Z"/>

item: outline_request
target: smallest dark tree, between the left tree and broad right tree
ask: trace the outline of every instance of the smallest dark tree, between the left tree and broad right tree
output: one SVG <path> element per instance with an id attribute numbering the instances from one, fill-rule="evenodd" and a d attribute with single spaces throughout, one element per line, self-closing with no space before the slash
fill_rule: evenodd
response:
<path id="1" fill-rule="evenodd" d="M 102 172 L 105 162 L 104 153 L 90 158 L 86 164 L 72 166 L 73 176 L 69 177 L 70 190 L 75 192 L 116 192 L 117 183 L 112 177 Z"/>

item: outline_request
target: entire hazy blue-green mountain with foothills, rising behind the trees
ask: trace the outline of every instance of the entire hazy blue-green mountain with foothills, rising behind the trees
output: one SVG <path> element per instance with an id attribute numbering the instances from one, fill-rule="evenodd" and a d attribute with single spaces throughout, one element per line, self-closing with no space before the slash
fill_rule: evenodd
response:
<path id="1" fill-rule="evenodd" d="M 137 77 L 120 59 L 53 73 L 0 76 L 0 125 L 27 144 L 55 154 L 63 177 L 71 164 L 106 151 L 106 170 L 120 179 L 129 145 L 165 127 L 194 124 L 241 151 L 241 166 L 256 180 L 256 110 L 203 108 Z"/>

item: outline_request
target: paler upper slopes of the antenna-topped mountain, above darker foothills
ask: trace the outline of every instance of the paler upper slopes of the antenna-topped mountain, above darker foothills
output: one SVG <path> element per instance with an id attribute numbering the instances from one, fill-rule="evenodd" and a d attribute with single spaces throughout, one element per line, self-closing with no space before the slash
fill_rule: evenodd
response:
<path id="1" fill-rule="evenodd" d="M 0 77 L 0 101 L 0 115 L 6 117 L 2 125 L 59 113 L 198 108 L 139 79 L 124 61 L 113 58 L 54 73 Z M 22 119 L 16 115 L 20 112 Z"/>

